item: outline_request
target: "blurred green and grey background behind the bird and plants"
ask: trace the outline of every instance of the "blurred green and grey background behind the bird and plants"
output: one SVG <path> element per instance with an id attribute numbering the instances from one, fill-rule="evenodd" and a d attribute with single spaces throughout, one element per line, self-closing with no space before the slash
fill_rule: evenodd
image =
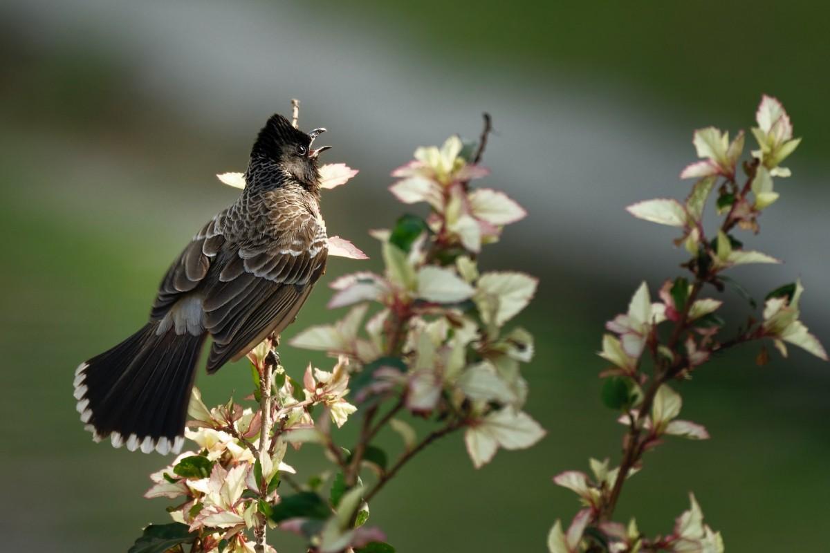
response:
<path id="1" fill-rule="evenodd" d="M 324 211 L 374 267 L 365 231 L 402 211 L 388 172 L 418 145 L 476 137 L 481 111 L 493 115 L 486 185 L 530 217 L 482 265 L 540 276 L 517 323 L 537 339 L 527 410 L 549 434 L 479 471 L 460 436 L 445 439 L 373 502 L 371 521 L 404 553 L 543 551 L 554 519 L 578 508 L 550 478 L 619 458 L 621 428 L 598 399 L 603 323 L 640 279 L 656 289 L 680 270 L 671 231 L 623 206 L 684 195 L 692 129 L 747 129 L 762 93 L 784 101 L 804 141 L 749 238 L 787 264 L 738 276 L 762 297 L 800 275 L 803 319 L 830 342 L 827 17 L 815 2 L 767 0 L 2 2 L 0 548 L 125 551 L 167 521 L 164 500 L 141 497 L 163 459 L 92 444 L 72 372 L 144 322 L 170 260 L 234 198 L 213 175 L 242 171 L 256 130 L 299 97 L 301 126 L 330 129 L 330 160 L 361 169 Z M 333 260 L 325 279 L 365 266 Z M 286 335 L 338 316 L 328 295 L 320 286 Z M 680 386 L 683 417 L 712 439 L 648 455 L 621 518 L 666 533 L 693 490 L 729 551 L 826 550 L 830 367 L 800 351 L 758 367 L 756 351 Z M 295 375 L 310 358 L 282 353 Z M 217 402 L 249 378 L 237 364 L 198 386 Z M 302 476 L 323 468 L 313 447 L 287 460 Z"/>

